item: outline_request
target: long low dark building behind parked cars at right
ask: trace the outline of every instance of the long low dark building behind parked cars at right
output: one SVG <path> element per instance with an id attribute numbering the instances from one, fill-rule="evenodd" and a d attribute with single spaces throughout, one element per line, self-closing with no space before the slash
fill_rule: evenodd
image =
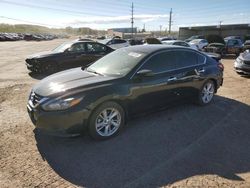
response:
<path id="1" fill-rule="evenodd" d="M 214 26 L 198 26 L 198 27 L 180 27 L 179 39 L 184 40 L 193 35 L 221 35 L 227 36 L 241 36 L 244 38 L 250 35 L 250 24 L 232 24 L 232 25 L 214 25 Z"/>

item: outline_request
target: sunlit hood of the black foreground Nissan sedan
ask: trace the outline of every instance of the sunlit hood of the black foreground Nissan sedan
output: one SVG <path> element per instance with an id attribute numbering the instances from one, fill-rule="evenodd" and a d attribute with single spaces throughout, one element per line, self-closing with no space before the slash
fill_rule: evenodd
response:
<path id="1" fill-rule="evenodd" d="M 67 91 L 83 91 L 100 83 L 105 84 L 109 80 L 117 79 L 116 77 L 102 76 L 86 72 L 81 68 L 74 68 L 60 73 L 53 74 L 41 80 L 33 87 L 33 91 L 43 97 L 67 93 Z"/>

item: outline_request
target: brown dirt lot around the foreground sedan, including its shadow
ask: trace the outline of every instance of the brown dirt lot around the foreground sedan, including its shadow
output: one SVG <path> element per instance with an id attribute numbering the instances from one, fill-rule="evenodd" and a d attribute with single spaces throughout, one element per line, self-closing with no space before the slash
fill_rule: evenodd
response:
<path id="1" fill-rule="evenodd" d="M 0 43 L 0 187 L 250 187 L 250 79 L 232 58 L 211 105 L 139 117 L 96 142 L 40 134 L 26 113 L 39 80 L 25 57 L 62 42 Z"/>

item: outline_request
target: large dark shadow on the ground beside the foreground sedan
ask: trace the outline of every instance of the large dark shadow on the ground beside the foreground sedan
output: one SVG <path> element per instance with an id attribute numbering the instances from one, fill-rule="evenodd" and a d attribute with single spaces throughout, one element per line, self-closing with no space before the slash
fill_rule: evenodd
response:
<path id="1" fill-rule="evenodd" d="M 36 132 L 37 148 L 65 180 L 83 187 L 159 187 L 195 175 L 244 181 L 250 172 L 249 105 L 216 96 L 137 117 L 106 141 Z"/>

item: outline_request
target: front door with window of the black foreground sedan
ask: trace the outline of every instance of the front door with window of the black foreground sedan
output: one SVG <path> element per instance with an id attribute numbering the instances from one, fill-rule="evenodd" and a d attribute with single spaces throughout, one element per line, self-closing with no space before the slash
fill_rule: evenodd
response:
<path id="1" fill-rule="evenodd" d="M 159 108 L 175 101 L 175 65 L 176 57 L 172 51 L 164 51 L 154 54 L 135 72 L 130 87 L 132 113 Z M 153 75 L 138 77 L 137 73 L 144 70 L 151 70 Z"/>

